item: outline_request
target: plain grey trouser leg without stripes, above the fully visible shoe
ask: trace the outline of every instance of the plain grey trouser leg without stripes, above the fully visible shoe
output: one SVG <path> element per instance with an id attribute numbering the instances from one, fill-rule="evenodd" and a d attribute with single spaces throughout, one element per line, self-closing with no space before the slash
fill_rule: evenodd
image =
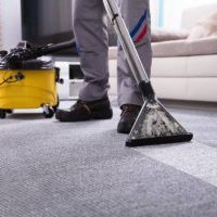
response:
<path id="1" fill-rule="evenodd" d="M 108 39 L 102 0 L 75 0 L 74 33 L 85 75 L 79 99 L 100 100 L 108 90 Z"/>

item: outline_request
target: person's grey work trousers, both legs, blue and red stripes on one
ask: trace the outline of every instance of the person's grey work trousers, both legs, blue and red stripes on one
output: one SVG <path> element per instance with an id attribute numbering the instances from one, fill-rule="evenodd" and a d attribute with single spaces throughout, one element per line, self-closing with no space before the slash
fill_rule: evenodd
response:
<path id="1" fill-rule="evenodd" d="M 138 53 L 150 76 L 151 40 L 149 0 L 119 0 L 126 25 Z M 102 0 L 74 1 L 74 33 L 85 75 L 79 98 L 84 101 L 102 99 L 107 94 L 108 46 L 107 22 Z M 142 95 L 132 77 L 124 51 L 118 47 L 117 58 L 118 104 L 142 104 Z"/>

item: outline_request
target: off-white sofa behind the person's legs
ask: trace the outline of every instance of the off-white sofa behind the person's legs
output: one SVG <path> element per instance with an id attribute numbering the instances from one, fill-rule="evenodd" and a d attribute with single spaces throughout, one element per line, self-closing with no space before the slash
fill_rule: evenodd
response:
<path id="1" fill-rule="evenodd" d="M 189 9 L 181 29 L 190 30 L 217 4 Z M 111 94 L 116 93 L 115 49 L 111 49 Z M 158 98 L 217 102 L 217 37 L 153 43 L 152 84 Z"/>

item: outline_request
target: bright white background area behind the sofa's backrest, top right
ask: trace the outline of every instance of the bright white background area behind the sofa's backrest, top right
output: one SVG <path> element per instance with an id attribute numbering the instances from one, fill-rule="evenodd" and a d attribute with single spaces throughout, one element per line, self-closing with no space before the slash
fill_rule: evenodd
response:
<path id="1" fill-rule="evenodd" d="M 217 3 L 217 0 L 165 0 L 164 27 L 171 29 L 180 28 L 181 14 L 184 9 L 208 3 Z"/>

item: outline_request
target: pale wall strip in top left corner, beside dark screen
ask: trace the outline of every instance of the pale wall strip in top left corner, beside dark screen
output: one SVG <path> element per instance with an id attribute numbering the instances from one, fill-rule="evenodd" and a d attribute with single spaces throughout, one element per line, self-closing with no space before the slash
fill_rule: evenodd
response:
<path id="1" fill-rule="evenodd" d="M 2 49 L 14 48 L 22 39 L 21 0 L 0 0 Z"/>

